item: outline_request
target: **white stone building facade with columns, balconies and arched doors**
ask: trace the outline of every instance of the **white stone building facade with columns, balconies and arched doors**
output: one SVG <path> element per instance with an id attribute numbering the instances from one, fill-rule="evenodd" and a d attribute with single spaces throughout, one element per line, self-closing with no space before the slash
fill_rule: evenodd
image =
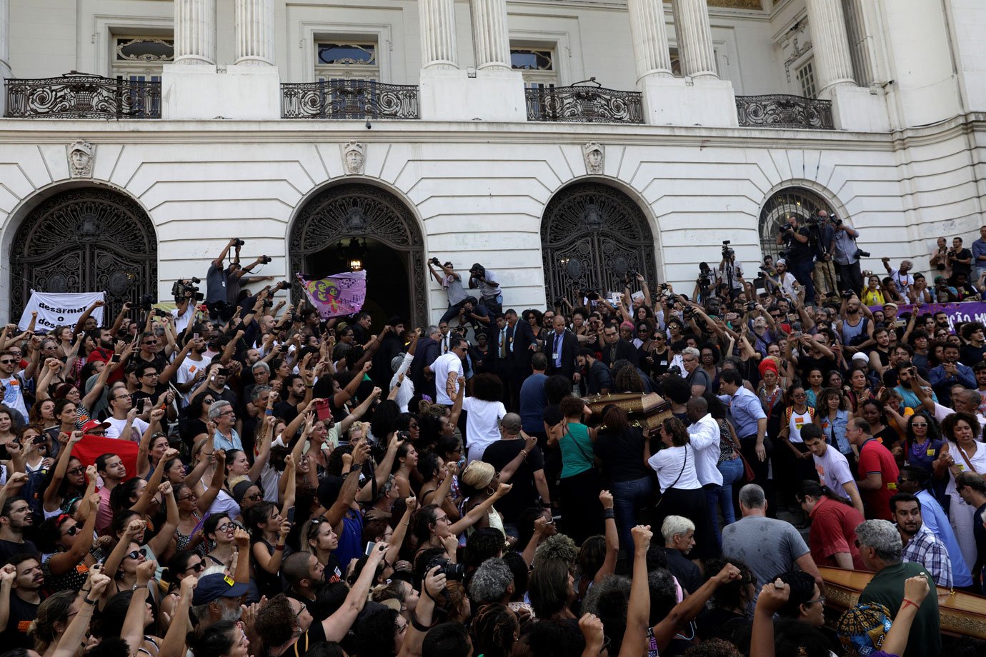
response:
<path id="1" fill-rule="evenodd" d="M 232 236 L 279 278 L 358 252 L 416 321 L 431 257 L 519 309 L 614 265 L 690 293 L 724 239 L 755 269 L 792 189 L 864 268 L 927 269 L 983 224 L 984 28 L 979 0 L 0 0 L 0 315 L 38 281 L 165 300 Z"/>

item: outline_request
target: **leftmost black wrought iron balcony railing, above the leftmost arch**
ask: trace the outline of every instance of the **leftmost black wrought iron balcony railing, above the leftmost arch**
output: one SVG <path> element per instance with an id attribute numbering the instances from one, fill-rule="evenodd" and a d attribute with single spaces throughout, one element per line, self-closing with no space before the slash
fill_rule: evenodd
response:
<path id="1" fill-rule="evenodd" d="M 68 73 L 10 79 L 4 116 L 17 118 L 161 118 L 161 83 Z"/>

